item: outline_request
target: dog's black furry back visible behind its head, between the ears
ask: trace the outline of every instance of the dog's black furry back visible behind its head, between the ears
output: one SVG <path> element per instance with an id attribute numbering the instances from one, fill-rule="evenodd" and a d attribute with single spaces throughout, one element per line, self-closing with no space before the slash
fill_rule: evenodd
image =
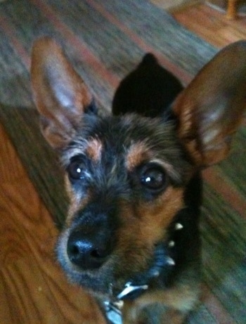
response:
<path id="1" fill-rule="evenodd" d="M 145 117 L 166 114 L 182 89 L 181 82 L 148 53 L 136 70 L 119 84 L 112 101 L 112 113 L 136 112 Z"/>

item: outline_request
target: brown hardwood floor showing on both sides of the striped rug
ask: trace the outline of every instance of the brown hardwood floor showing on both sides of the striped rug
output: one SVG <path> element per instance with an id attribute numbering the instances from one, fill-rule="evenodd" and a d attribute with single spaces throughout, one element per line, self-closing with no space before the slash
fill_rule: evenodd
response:
<path id="1" fill-rule="evenodd" d="M 205 5 L 174 17 L 214 46 L 246 39 L 245 18 L 228 21 Z M 67 283 L 56 264 L 56 228 L 1 125 L 0 138 L 0 323 L 104 323 L 93 300 Z"/>

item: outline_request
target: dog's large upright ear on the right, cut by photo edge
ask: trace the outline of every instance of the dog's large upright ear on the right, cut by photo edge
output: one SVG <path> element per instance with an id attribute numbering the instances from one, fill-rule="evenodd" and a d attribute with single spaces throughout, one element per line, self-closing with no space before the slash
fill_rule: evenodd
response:
<path id="1" fill-rule="evenodd" d="M 246 41 L 220 51 L 176 98 L 178 136 L 198 167 L 228 154 L 246 108 Z"/>

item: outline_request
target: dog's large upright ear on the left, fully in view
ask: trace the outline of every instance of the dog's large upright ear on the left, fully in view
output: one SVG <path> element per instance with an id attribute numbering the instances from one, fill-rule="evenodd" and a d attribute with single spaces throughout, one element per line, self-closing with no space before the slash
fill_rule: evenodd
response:
<path id="1" fill-rule="evenodd" d="M 31 79 L 41 131 L 53 148 L 63 148 L 91 104 L 91 94 L 60 46 L 48 37 L 34 43 Z"/>

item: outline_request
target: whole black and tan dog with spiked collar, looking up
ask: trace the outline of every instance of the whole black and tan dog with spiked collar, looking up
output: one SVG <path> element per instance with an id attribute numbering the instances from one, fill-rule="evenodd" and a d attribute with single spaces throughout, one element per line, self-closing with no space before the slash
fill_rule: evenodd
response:
<path id="1" fill-rule="evenodd" d="M 246 105 L 246 42 L 221 50 L 183 89 L 153 54 L 101 115 L 62 48 L 35 41 L 41 132 L 70 198 L 56 252 L 107 323 L 183 323 L 200 298 L 201 170 L 223 160 Z"/>

